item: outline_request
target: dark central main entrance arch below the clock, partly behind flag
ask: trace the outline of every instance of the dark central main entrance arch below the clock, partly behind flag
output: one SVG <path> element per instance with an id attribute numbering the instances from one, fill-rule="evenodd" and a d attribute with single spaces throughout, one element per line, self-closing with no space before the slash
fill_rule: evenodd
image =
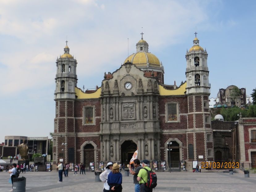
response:
<path id="1" fill-rule="evenodd" d="M 133 153 L 137 150 L 137 144 L 132 140 L 126 140 L 121 144 L 121 161 L 127 165 L 132 158 Z"/>

